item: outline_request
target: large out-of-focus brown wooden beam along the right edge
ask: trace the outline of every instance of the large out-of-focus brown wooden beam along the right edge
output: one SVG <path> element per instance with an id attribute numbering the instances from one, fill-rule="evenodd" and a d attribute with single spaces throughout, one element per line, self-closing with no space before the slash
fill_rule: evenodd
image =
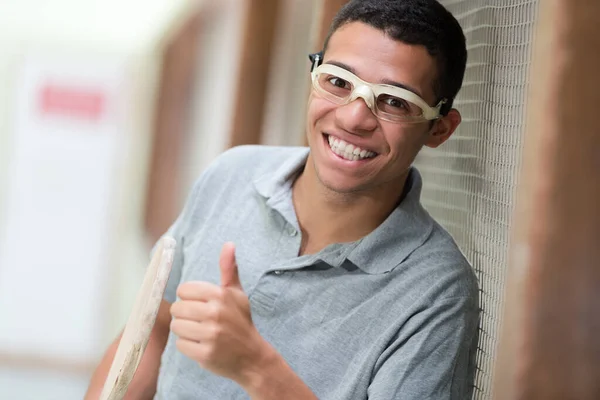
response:
<path id="1" fill-rule="evenodd" d="M 540 1 L 495 399 L 600 399 L 600 2 Z"/>

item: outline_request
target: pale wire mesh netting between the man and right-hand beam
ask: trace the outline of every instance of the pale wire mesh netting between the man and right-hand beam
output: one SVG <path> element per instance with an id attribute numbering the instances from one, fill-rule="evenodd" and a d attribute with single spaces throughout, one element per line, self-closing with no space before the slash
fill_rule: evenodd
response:
<path id="1" fill-rule="evenodd" d="M 425 149 L 423 204 L 471 261 L 481 288 L 475 399 L 491 397 L 509 230 L 518 177 L 538 0 L 441 0 L 460 21 L 469 58 L 455 107 L 463 122 Z"/>

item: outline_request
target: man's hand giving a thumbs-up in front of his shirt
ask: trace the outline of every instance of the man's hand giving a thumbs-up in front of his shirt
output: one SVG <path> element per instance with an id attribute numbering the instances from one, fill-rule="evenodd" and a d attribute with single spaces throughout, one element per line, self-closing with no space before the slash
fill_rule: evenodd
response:
<path id="1" fill-rule="evenodd" d="M 250 303 L 238 276 L 233 243 L 219 260 L 221 286 L 186 282 L 171 306 L 177 348 L 203 368 L 240 385 L 251 379 L 269 346 L 252 322 Z"/>

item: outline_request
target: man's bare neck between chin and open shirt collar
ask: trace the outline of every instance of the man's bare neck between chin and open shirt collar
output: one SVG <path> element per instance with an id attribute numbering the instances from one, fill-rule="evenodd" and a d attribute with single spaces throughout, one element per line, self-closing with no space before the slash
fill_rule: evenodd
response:
<path id="1" fill-rule="evenodd" d="M 333 243 L 356 241 L 377 228 L 396 208 L 408 171 L 400 181 L 370 190 L 339 193 L 318 178 L 310 155 L 293 186 L 296 216 L 303 248 L 316 252 Z"/>

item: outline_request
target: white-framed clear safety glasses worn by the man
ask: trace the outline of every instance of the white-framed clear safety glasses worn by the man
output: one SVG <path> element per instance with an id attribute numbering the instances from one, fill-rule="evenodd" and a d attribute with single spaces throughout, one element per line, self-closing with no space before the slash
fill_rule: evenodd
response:
<path id="1" fill-rule="evenodd" d="M 446 100 L 431 107 L 421 97 L 393 85 L 365 82 L 352 72 L 332 64 L 321 64 L 320 54 L 311 55 L 313 88 L 321 97 L 344 105 L 362 98 L 373 114 L 389 122 L 423 122 L 441 117 Z"/>

